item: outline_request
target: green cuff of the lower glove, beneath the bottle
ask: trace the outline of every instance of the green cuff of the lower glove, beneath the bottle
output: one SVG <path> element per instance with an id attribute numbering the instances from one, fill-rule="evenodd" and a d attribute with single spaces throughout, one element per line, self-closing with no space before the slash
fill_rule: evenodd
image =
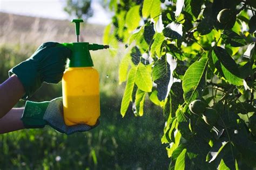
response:
<path id="1" fill-rule="evenodd" d="M 43 119 L 45 110 L 49 102 L 31 102 L 26 101 L 25 109 L 22 115 L 22 122 L 26 129 L 44 128 L 47 122 Z"/>

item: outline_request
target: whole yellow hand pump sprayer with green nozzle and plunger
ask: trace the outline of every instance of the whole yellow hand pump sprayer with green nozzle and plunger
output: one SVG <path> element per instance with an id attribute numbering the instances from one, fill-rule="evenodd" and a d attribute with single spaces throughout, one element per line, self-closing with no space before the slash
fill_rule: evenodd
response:
<path id="1" fill-rule="evenodd" d="M 62 79 L 63 111 L 66 125 L 95 125 L 100 116 L 99 73 L 93 68 L 89 50 L 109 48 L 107 45 L 79 42 L 79 24 L 82 19 L 73 19 L 77 42 L 63 43 L 72 51 L 68 68 Z"/>

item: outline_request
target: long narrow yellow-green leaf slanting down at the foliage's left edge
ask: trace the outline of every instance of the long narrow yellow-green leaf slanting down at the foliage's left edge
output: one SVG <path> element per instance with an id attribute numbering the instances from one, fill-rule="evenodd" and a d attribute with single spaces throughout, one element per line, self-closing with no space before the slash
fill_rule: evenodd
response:
<path id="1" fill-rule="evenodd" d="M 126 87 L 124 90 L 124 96 L 122 99 L 122 104 L 121 104 L 121 115 L 124 117 L 126 114 L 126 110 L 129 107 L 131 98 L 132 98 L 132 91 L 134 87 L 134 82 L 135 82 L 135 75 L 136 75 L 137 68 L 133 67 L 129 71 Z"/>

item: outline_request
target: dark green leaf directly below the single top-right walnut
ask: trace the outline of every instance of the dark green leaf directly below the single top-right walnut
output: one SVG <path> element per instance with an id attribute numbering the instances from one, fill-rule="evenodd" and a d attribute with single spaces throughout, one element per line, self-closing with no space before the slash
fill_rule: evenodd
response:
<path id="1" fill-rule="evenodd" d="M 240 47 L 246 45 L 246 41 L 244 38 L 230 30 L 225 30 L 221 38 L 226 44 L 230 44 L 232 47 Z"/>

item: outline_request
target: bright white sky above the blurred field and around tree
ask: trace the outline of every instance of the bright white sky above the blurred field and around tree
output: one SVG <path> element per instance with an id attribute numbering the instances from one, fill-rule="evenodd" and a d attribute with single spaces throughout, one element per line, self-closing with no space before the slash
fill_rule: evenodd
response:
<path id="1" fill-rule="evenodd" d="M 0 0 L 0 12 L 15 13 L 18 15 L 71 19 L 63 10 L 65 0 Z M 111 13 L 106 11 L 97 0 L 92 0 L 93 16 L 88 22 L 107 25 L 111 22 Z"/>

